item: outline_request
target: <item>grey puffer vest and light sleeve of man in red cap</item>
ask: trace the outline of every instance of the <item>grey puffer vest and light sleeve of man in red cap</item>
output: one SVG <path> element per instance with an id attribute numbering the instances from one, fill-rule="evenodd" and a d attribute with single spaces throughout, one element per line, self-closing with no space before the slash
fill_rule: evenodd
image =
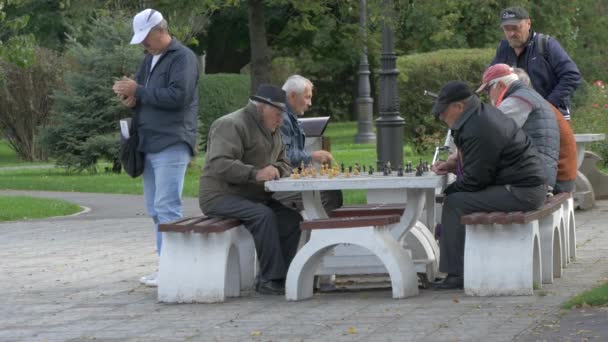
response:
<path id="1" fill-rule="evenodd" d="M 521 81 L 511 84 L 498 109 L 511 116 L 532 139 L 545 168 L 547 184 L 555 186 L 559 159 L 559 126 L 547 101 Z"/>

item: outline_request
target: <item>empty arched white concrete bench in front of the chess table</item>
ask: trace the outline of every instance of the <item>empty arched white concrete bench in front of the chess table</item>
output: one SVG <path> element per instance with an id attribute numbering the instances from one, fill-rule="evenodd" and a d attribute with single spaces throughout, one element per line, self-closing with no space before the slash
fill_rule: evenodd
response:
<path id="1" fill-rule="evenodd" d="M 302 230 L 310 230 L 310 240 L 298 251 L 287 272 L 287 300 L 310 298 L 315 271 L 323 256 L 340 244 L 366 248 L 386 267 L 391 279 L 393 298 L 418 294 L 418 280 L 411 255 L 391 234 L 399 215 L 336 217 L 304 221 Z"/>

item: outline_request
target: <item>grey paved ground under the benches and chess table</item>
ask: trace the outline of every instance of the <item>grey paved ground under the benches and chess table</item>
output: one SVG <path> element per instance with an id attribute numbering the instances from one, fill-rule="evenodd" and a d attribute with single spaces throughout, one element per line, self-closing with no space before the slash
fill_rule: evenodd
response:
<path id="1" fill-rule="evenodd" d="M 387 289 L 297 303 L 246 293 L 223 304 L 159 304 L 137 282 L 157 263 L 141 196 L 37 195 L 92 211 L 0 224 L 0 341 L 536 341 L 555 336 L 542 328 L 562 302 L 608 277 L 608 201 L 599 201 L 576 212 L 577 260 L 534 296 L 422 290 L 393 300 Z M 187 202 L 196 212 L 196 200 Z"/>

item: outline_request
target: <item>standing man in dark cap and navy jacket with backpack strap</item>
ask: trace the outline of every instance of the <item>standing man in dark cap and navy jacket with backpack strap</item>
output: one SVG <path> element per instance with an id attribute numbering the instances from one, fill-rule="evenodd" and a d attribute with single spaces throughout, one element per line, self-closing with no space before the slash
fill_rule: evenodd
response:
<path id="1" fill-rule="evenodd" d="M 524 69 L 532 87 L 570 120 L 570 97 L 581 83 L 581 73 L 557 40 L 531 28 L 530 15 L 521 7 L 500 13 L 505 34 L 490 65 L 504 63 Z"/>

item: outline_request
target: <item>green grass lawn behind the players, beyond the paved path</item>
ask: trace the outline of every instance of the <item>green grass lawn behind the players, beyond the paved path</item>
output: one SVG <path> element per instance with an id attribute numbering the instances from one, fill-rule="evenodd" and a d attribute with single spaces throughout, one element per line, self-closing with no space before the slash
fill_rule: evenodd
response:
<path id="1" fill-rule="evenodd" d="M 376 144 L 355 144 L 357 133 L 356 122 L 331 123 L 325 133 L 331 139 L 331 152 L 338 163 L 345 165 L 376 164 Z M 12 154 L 12 156 L 11 156 Z M 404 161 L 412 161 L 414 165 L 420 158 L 430 161 L 432 156 L 413 155 L 411 148 L 404 148 Z M 198 196 L 198 178 L 204 156 L 197 158 L 196 165 L 189 168 L 184 181 L 184 196 Z M 16 163 L 18 159 L 5 142 L 0 142 L 0 166 Z M 23 164 L 23 162 L 22 162 Z M 105 164 L 98 169 L 103 170 Z M 106 172 L 98 173 L 68 173 L 62 168 L 54 169 L 21 169 L 0 171 L 0 189 L 12 190 L 43 190 L 43 191 L 75 191 L 117 194 L 142 194 L 141 178 L 130 178 L 128 175 Z M 347 204 L 365 203 L 365 191 L 349 190 L 344 193 Z"/>

